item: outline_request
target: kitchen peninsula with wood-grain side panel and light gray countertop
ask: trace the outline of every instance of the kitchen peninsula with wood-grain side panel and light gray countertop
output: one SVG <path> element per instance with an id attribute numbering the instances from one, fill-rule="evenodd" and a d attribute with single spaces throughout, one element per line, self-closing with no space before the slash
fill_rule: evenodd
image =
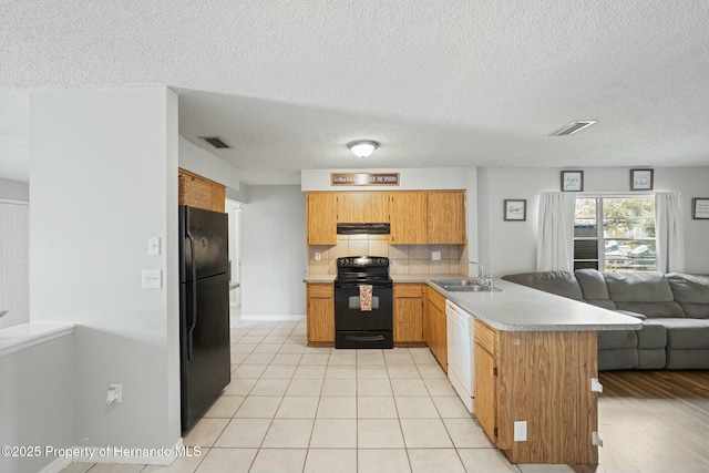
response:
<path id="1" fill-rule="evenodd" d="M 503 280 L 501 291 L 460 292 L 428 275 L 392 279 L 425 284 L 474 317 L 475 415 L 512 463 L 598 463 L 597 331 L 639 320 Z"/>

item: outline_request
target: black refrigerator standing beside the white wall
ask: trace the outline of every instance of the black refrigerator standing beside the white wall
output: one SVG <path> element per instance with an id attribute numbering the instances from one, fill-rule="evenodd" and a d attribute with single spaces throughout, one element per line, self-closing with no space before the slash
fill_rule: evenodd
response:
<path id="1" fill-rule="evenodd" d="M 230 381 L 228 216 L 179 206 L 182 433 Z"/>

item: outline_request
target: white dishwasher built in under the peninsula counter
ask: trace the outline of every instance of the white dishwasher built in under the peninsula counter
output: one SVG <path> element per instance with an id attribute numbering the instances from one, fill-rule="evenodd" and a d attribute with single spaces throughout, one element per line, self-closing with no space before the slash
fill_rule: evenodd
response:
<path id="1" fill-rule="evenodd" d="M 445 300 L 445 318 L 448 335 L 448 379 L 455 388 L 458 395 L 474 413 L 473 400 L 473 316 L 458 305 Z"/>

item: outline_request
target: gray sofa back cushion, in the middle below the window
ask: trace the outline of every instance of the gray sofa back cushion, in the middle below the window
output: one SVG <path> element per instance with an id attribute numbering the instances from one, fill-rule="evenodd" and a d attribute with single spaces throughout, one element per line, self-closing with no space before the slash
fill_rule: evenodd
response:
<path id="1" fill-rule="evenodd" d="M 659 273 L 604 273 L 608 295 L 618 310 L 648 318 L 684 317 L 665 275 Z"/>

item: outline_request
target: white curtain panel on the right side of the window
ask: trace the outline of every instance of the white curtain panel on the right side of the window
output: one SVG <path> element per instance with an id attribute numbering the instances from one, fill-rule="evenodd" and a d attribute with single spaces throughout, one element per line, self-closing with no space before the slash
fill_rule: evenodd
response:
<path id="1" fill-rule="evenodd" d="M 685 234 L 679 194 L 655 195 L 655 237 L 657 239 L 657 270 L 682 273 L 685 270 Z"/>

